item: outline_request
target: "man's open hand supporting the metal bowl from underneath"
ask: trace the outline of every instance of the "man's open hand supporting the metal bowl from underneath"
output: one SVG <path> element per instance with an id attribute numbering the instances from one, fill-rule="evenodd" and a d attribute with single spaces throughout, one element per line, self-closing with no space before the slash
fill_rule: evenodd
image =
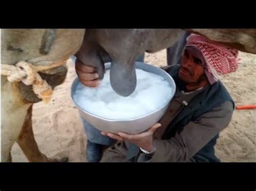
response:
<path id="1" fill-rule="evenodd" d="M 153 125 L 149 130 L 137 135 L 129 135 L 123 132 L 119 132 L 118 135 L 109 132 L 102 132 L 102 135 L 109 136 L 110 138 L 119 140 L 121 142 L 127 140 L 133 144 L 136 144 L 143 150 L 151 152 L 154 149 L 153 133 L 158 128 L 160 128 L 160 126 L 161 124 L 157 123 Z"/>

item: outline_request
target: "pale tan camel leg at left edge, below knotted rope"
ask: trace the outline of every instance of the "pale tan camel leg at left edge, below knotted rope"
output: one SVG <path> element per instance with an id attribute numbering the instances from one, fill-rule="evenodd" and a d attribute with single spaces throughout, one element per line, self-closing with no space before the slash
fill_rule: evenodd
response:
<path id="1" fill-rule="evenodd" d="M 10 151 L 16 142 L 26 117 L 26 111 L 32 105 L 24 102 L 18 90 L 18 83 L 10 83 L 1 76 L 1 161 L 11 161 Z"/>

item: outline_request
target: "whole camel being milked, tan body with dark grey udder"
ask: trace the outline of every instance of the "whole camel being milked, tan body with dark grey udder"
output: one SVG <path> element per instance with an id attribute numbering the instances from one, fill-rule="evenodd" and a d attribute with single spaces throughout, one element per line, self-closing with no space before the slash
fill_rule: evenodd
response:
<path id="1" fill-rule="evenodd" d="M 254 29 L 185 30 L 242 52 L 256 53 Z M 45 80 L 53 89 L 63 83 L 67 72 L 64 65 L 50 68 L 55 63 L 64 63 L 69 56 L 75 54 L 79 60 L 98 68 L 100 78 L 103 78 L 102 58 L 109 56 L 112 60 L 111 86 L 118 94 L 128 96 L 136 87 L 136 56 L 144 51 L 154 53 L 172 46 L 180 33 L 181 29 L 4 29 L 2 66 L 14 66 L 25 61 L 32 67 L 43 67 L 37 73 L 42 83 Z M 24 72 L 25 66 L 18 66 Z M 33 85 L 25 84 L 26 77 L 29 78 L 23 76 L 20 81 L 10 82 L 10 76 L 1 76 L 1 159 L 3 162 L 11 161 L 10 150 L 17 142 L 30 162 L 67 161 L 65 158 L 50 159 L 38 149 L 32 131 L 32 104 L 44 98 L 35 94 Z"/>

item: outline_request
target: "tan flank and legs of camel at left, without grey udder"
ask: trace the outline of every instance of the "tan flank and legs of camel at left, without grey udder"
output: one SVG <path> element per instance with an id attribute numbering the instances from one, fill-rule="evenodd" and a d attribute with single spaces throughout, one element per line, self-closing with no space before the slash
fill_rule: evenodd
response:
<path id="1" fill-rule="evenodd" d="M 2 64 L 13 66 L 19 61 L 26 61 L 33 66 L 49 66 L 65 61 L 78 51 L 84 32 L 80 29 L 2 29 Z M 64 82 L 66 72 L 63 65 L 43 70 L 39 75 L 54 88 Z M 31 162 L 56 161 L 38 150 L 33 137 L 32 104 L 42 99 L 33 93 L 32 86 L 26 86 L 22 81 L 10 82 L 4 75 L 1 80 L 2 161 L 11 161 L 10 150 L 15 142 Z"/>

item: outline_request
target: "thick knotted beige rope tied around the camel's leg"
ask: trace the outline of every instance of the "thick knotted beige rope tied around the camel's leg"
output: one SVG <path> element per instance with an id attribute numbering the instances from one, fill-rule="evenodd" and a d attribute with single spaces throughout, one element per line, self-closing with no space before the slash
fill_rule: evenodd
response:
<path id="1" fill-rule="evenodd" d="M 41 78 L 38 72 L 62 66 L 68 59 L 61 60 L 49 66 L 33 66 L 31 63 L 20 61 L 16 65 L 1 65 L 1 75 L 8 76 L 10 82 L 23 82 L 26 86 L 32 85 L 32 89 L 37 97 L 45 103 L 51 99 L 52 88 Z"/>

